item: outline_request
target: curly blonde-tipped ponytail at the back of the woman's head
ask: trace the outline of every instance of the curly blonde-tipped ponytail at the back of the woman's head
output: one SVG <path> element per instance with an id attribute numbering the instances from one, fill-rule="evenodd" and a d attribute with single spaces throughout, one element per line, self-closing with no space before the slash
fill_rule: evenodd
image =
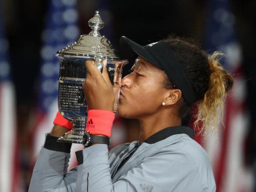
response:
<path id="1" fill-rule="evenodd" d="M 208 60 L 211 71 L 209 88 L 202 101 L 197 103 L 198 113 L 194 127 L 198 129 L 198 124 L 202 123 L 199 133 L 203 133 L 205 136 L 212 130 L 217 131 L 218 123 L 222 120 L 226 92 L 233 85 L 231 74 L 226 72 L 219 63 L 219 56 L 221 55 L 223 54 L 220 52 L 214 52 L 209 55 Z"/>

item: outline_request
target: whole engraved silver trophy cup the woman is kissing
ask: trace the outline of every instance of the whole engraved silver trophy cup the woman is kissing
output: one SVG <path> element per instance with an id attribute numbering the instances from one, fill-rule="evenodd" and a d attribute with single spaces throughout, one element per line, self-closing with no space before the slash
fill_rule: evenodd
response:
<path id="1" fill-rule="evenodd" d="M 86 78 L 86 60 L 94 60 L 98 70 L 102 72 L 103 60 L 107 59 L 108 76 L 115 95 L 114 113 L 118 107 L 122 71 L 127 61 L 119 59 L 109 40 L 100 35 L 99 30 L 104 27 L 104 22 L 98 11 L 88 23 L 92 29 L 89 34 L 81 35 L 74 44 L 56 54 L 60 62 L 59 112 L 73 123 L 73 129 L 59 138 L 59 142 L 83 143 L 87 122 L 87 103 L 82 86 Z"/>

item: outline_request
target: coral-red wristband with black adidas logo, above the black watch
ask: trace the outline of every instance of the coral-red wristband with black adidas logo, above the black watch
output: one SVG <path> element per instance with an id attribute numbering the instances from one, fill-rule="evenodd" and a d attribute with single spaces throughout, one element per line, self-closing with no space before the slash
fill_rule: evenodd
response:
<path id="1" fill-rule="evenodd" d="M 108 110 L 91 109 L 88 111 L 86 131 L 93 135 L 111 136 L 111 128 L 115 118 L 115 113 Z"/>

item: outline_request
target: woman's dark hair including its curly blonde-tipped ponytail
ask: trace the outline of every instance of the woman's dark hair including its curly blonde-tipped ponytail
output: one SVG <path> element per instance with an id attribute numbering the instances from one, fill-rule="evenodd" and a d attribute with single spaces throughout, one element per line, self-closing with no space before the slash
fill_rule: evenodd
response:
<path id="1" fill-rule="evenodd" d="M 168 36 L 163 39 L 173 50 L 177 60 L 182 65 L 188 80 L 192 83 L 198 104 L 198 113 L 195 126 L 202 123 L 200 130 L 206 133 L 209 129 L 217 127 L 219 123 L 218 108 L 223 111 L 226 92 L 232 88 L 233 80 L 219 63 L 219 52 L 209 55 L 201 49 L 192 39 Z M 166 78 L 165 87 L 172 89 L 172 83 Z M 184 118 L 191 112 L 186 102 L 182 102 L 179 116 Z"/>

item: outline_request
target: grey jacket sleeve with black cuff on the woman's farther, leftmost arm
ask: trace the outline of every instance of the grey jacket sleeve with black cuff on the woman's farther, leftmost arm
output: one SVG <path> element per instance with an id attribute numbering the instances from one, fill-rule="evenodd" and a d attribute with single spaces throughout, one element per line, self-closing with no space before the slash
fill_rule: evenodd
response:
<path id="1" fill-rule="evenodd" d="M 77 167 L 69 172 L 71 143 L 57 142 L 46 136 L 44 147 L 35 163 L 29 192 L 75 192 Z"/>

